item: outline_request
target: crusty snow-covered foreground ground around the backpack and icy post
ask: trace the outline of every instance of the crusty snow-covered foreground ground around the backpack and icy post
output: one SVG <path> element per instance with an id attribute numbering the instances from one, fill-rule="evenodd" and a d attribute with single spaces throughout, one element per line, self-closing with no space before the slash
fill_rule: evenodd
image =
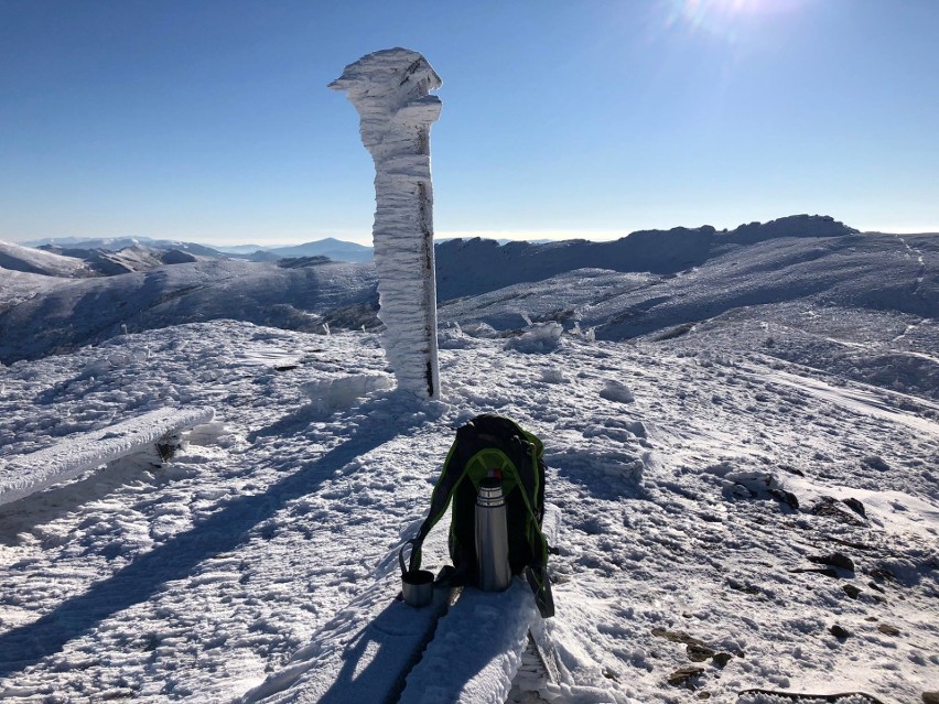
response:
<path id="1" fill-rule="evenodd" d="M 393 583 L 453 429 L 483 411 L 541 436 L 563 513 L 547 624 L 573 681 L 527 679 L 542 700 L 939 690 L 939 408 L 709 325 L 540 354 L 464 336 L 424 404 L 355 400 L 389 378 L 361 332 L 215 321 L 0 368 L 0 458 L 166 404 L 217 420 L 162 469 L 119 462 L 0 512 L 0 697 L 229 702 L 289 687 L 291 658 L 342 631 L 341 700 L 371 647 L 356 599 Z"/>

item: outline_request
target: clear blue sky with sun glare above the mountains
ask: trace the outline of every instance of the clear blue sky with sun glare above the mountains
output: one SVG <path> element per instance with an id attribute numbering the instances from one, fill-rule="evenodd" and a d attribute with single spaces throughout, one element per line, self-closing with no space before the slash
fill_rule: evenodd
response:
<path id="1" fill-rule="evenodd" d="M 370 242 L 379 48 L 443 78 L 438 236 L 939 231 L 939 2 L 0 0 L 0 239 Z"/>

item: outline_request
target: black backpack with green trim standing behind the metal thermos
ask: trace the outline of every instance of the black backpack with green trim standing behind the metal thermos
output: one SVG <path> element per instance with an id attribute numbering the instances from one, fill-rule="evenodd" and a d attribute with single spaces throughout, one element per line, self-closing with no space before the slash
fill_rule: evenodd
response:
<path id="1" fill-rule="evenodd" d="M 541 532 L 544 517 L 544 445 L 515 421 L 485 413 L 456 430 L 440 478 L 431 495 L 428 518 L 411 545 L 410 570 L 421 566 L 421 545 L 452 505 L 450 557 L 452 584 L 474 584 L 477 578 L 475 512 L 479 483 L 500 473 L 506 501 L 509 566 L 525 573 L 541 616 L 554 615 L 548 581 L 548 542 Z"/>

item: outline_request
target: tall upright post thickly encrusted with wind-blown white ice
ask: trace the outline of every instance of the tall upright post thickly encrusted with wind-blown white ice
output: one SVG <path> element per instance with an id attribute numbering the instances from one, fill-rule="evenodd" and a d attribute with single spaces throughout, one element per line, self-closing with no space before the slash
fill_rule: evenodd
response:
<path id="1" fill-rule="evenodd" d="M 375 268 L 381 338 L 398 388 L 440 398 L 430 128 L 440 88 L 427 59 L 388 48 L 346 66 L 330 84 L 361 118 L 361 142 L 375 161 Z"/>

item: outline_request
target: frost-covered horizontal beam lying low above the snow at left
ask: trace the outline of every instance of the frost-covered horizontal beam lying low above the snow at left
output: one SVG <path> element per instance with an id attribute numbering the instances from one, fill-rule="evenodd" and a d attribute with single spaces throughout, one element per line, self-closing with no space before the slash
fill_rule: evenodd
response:
<path id="1" fill-rule="evenodd" d="M 144 413 L 0 465 L 0 503 L 9 503 L 86 469 L 147 448 L 169 433 L 207 423 L 211 408 L 165 408 Z"/>

